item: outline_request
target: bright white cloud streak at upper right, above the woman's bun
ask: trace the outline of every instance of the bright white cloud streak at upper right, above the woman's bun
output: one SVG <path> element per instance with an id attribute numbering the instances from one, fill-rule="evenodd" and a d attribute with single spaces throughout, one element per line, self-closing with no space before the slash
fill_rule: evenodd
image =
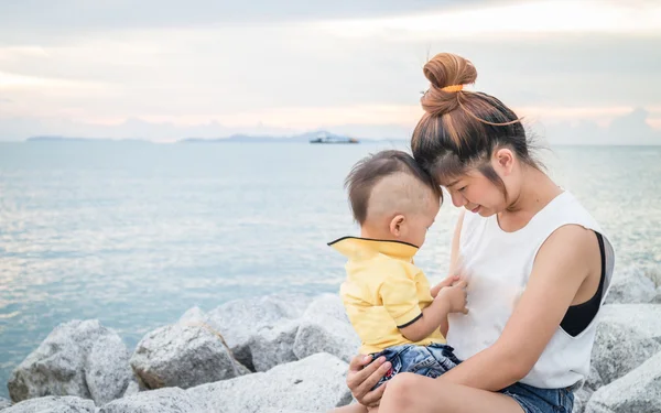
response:
<path id="1" fill-rule="evenodd" d="M 529 1 L 391 18 L 321 21 L 313 24 L 340 36 L 383 36 L 400 41 L 548 33 L 649 35 L 661 33 L 661 3 Z"/>

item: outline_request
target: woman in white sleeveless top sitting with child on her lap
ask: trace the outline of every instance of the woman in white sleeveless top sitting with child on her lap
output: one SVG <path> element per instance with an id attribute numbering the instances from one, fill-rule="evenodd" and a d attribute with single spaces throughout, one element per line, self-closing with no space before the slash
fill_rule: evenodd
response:
<path id="1" fill-rule="evenodd" d="M 356 357 L 347 384 L 362 405 L 340 411 L 571 412 L 589 372 L 613 247 L 542 172 L 514 112 L 464 90 L 477 77 L 469 61 L 438 54 L 424 74 L 431 86 L 411 148 L 465 209 L 451 267 L 460 262 L 468 278 L 469 313 L 449 317 L 447 336 L 464 361 L 438 379 L 401 373 L 370 391 L 390 366 Z"/>

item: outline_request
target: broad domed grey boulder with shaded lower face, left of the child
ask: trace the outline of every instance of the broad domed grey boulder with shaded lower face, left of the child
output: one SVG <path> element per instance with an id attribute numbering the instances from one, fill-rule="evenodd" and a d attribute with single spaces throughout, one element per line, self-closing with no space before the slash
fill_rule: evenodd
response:
<path id="1" fill-rule="evenodd" d="M 187 389 L 241 374 L 223 338 L 203 326 L 175 324 L 149 333 L 130 363 L 145 389 Z"/>

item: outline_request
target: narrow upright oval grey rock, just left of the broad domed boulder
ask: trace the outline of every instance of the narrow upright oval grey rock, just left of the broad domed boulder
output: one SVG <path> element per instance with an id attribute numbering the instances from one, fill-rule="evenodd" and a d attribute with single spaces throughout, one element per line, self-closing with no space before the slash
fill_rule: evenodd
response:
<path id="1" fill-rule="evenodd" d="M 85 367 L 85 380 L 97 405 L 121 398 L 133 377 L 129 350 L 117 335 L 99 337 Z"/>

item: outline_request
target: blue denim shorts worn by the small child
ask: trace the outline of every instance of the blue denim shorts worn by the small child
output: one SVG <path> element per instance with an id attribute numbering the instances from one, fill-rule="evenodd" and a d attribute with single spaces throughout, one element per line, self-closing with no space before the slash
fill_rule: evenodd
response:
<path id="1" fill-rule="evenodd" d="M 454 349 L 449 346 L 431 344 L 429 346 L 393 346 L 373 354 L 372 360 L 383 356 L 392 367 L 372 390 L 392 379 L 397 373 L 411 372 L 435 379 L 460 362 L 453 351 Z"/>

